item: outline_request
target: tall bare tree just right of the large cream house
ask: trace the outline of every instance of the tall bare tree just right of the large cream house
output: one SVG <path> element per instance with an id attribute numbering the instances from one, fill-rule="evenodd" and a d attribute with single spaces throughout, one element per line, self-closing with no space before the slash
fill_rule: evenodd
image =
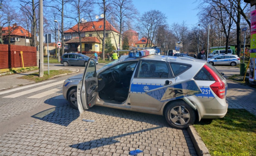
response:
<path id="1" fill-rule="evenodd" d="M 124 27 L 128 26 L 128 22 L 131 22 L 131 19 L 136 19 L 138 15 L 137 9 L 134 7 L 132 0 L 112 0 L 113 9 L 111 13 L 113 14 L 114 20 L 119 24 L 119 41 L 120 46 L 122 31 Z"/>

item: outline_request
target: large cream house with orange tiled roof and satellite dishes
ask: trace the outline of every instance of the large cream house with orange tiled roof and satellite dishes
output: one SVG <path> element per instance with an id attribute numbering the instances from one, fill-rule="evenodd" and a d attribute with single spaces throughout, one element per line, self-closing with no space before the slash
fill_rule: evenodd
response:
<path id="1" fill-rule="evenodd" d="M 79 30 L 81 31 L 83 53 L 102 52 L 102 40 L 100 38 L 103 38 L 103 25 L 103 18 L 92 22 L 84 20 L 80 23 Z M 118 49 L 116 44 L 118 44 L 119 32 L 106 20 L 106 39 L 108 38 Z M 64 42 L 65 52 L 80 51 L 78 24 L 64 31 Z"/>

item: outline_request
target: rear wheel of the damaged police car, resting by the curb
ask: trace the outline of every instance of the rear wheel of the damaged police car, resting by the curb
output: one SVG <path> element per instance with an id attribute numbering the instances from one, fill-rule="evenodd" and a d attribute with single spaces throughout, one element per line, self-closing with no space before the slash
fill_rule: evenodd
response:
<path id="1" fill-rule="evenodd" d="M 171 102 L 165 108 L 166 121 L 174 128 L 185 129 L 196 120 L 195 110 L 183 100 Z"/>

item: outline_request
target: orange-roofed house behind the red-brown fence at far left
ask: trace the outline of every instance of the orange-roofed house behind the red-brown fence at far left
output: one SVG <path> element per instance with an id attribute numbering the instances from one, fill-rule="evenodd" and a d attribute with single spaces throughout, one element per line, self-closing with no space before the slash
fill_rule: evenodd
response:
<path id="1" fill-rule="evenodd" d="M 13 45 L 30 46 L 31 33 L 24 29 L 22 26 L 13 24 L 12 27 L 3 27 L 2 36 L 4 44 L 8 44 L 10 35 L 10 43 Z M 26 37 L 25 37 L 26 36 Z"/>

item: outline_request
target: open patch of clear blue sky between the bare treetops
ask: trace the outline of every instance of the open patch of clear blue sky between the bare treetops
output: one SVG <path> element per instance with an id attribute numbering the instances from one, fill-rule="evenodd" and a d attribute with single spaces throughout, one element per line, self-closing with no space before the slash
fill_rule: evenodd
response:
<path id="1" fill-rule="evenodd" d="M 167 22 L 171 25 L 174 22 L 186 21 L 188 26 L 198 23 L 196 0 L 133 0 L 135 7 L 140 14 L 149 10 L 160 10 L 167 16 Z M 195 2 L 195 3 L 194 3 Z"/>

